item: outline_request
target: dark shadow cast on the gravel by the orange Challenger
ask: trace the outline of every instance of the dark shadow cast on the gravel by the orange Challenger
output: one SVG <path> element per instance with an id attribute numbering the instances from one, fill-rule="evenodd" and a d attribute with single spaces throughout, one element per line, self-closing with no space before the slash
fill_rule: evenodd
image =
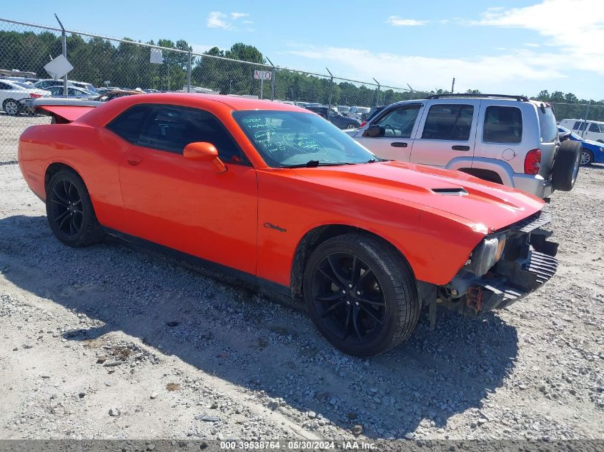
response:
<path id="1" fill-rule="evenodd" d="M 341 428 L 360 424 L 370 438 L 403 438 L 420 423 L 444 427 L 456 413 L 480 408 L 518 353 L 515 328 L 496 314 L 439 311 L 435 330 L 422 315 L 393 351 L 345 356 L 303 312 L 122 242 L 63 246 L 44 216 L 0 219 L 0 270 L 16 286 L 103 323 L 64 338 L 123 331 L 154 353 L 282 398 L 305 422 L 305 412 L 315 411 Z"/>

